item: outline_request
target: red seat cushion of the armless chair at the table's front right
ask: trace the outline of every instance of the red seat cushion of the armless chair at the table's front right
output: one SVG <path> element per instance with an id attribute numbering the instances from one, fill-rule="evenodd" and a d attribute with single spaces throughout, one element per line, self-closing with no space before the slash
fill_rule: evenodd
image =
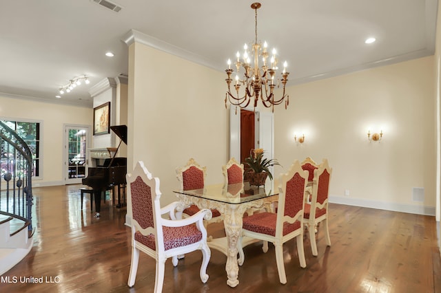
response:
<path id="1" fill-rule="evenodd" d="M 275 213 L 257 213 L 249 217 L 243 218 L 243 229 L 260 234 L 276 236 L 276 219 Z M 300 221 L 293 224 L 283 223 L 283 235 L 287 235 L 300 228 Z"/>

